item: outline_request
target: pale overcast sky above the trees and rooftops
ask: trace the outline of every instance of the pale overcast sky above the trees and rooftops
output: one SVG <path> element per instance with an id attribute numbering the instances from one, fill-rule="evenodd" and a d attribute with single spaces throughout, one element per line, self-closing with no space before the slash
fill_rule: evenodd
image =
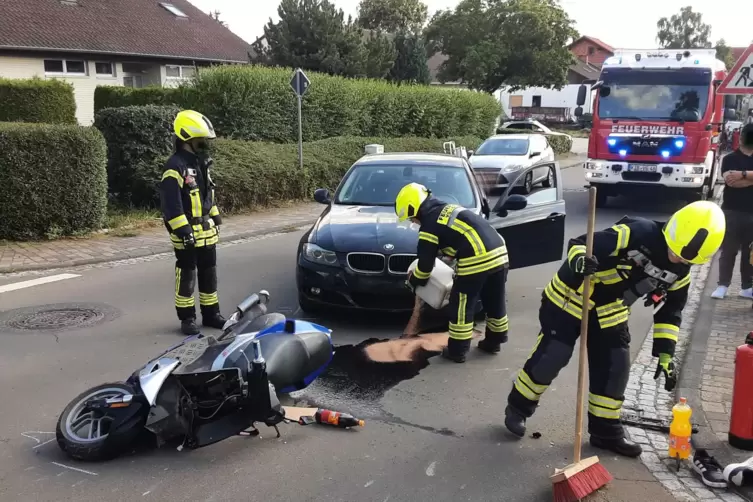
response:
<path id="1" fill-rule="evenodd" d="M 231 30 L 248 42 L 264 33 L 269 19 L 277 20 L 278 0 L 189 0 L 209 12 L 219 10 Z M 656 21 L 690 5 L 712 26 L 716 41 L 747 46 L 753 39 L 750 0 L 560 0 L 577 22 L 578 31 L 618 48 L 650 48 L 656 45 Z M 347 14 L 356 15 L 359 0 L 334 0 Z M 458 0 L 424 0 L 429 13 L 452 8 Z M 747 12 L 744 12 L 747 11 Z"/>

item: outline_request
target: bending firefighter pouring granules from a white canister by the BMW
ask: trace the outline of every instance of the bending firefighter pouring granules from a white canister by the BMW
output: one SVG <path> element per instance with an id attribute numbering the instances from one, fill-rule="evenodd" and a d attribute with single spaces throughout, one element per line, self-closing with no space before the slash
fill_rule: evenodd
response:
<path id="1" fill-rule="evenodd" d="M 450 338 L 442 355 L 465 362 L 473 337 L 473 318 L 480 298 L 486 311 L 485 337 L 478 344 L 495 354 L 507 341 L 508 319 L 505 282 L 509 259 L 502 236 L 482 217 L 431 196 L 423 185 L 410 183 L 397 194 L 399 221 L 421 225 L 418 232 L 418 266 L 408 277 L 411 288 L 426 284 L 441 251 L 457 260 L 457 274 L 450 293 Z"/>

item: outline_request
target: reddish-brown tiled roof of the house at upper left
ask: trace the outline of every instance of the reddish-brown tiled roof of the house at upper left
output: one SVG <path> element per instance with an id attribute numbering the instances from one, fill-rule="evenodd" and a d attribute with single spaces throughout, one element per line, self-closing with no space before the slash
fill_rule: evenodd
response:
<path id="1" fill-rule="evenodd" d="M 245 63 L 250 46 L 187 0 L 0 0 L 0 49 Z"/>

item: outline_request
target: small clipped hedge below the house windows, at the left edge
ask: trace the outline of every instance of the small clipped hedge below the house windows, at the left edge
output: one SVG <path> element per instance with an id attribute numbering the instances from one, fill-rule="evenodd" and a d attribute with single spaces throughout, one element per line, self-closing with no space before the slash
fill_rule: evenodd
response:
<path id="1" fill-rule="evenodd" d="M 0 122 L 76 124 L 73 86 L 55 79 L 0 78 Z"/>

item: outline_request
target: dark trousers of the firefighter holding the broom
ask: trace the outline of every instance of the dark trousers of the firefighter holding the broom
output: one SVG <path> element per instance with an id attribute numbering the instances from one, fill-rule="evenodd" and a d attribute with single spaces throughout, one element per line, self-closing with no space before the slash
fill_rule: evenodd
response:
<path id="1" fill-rule="evenodd" d="M 518 372 L 508 405 L 530 417 L 541 395 L 570 361 L 580 336 L 580 320 L 544 298 L 539 310 L 541 331 Z M 596 316 L 588 326 L 588 432 L 601 438 L 624 437 L 620 411 L 630 376 L 630 332 L 624 322 L 606 329 Z"/>

